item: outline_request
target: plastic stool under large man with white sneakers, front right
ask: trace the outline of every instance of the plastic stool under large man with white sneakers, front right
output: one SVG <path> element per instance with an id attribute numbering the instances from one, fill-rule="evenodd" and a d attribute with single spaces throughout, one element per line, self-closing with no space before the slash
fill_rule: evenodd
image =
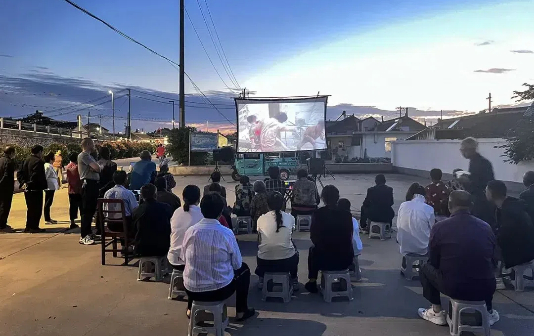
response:
<path id="1" fill-rule="evenodd" d="M 489 314 L 484 301 L 459 301 L 450 299 L 449 314 L 447 314 L 447 323 L 449 324 L 449 331 L 452 336 L 459 336 L 462 332 L 483 333 L 485 336 L 490 336 Z M 482 316 L 482 325 L 471 326 L 462 324 L 461 315 L 467 311 L 478 311 Z M 452 320 L 451 317 L 452 316 Z"/>

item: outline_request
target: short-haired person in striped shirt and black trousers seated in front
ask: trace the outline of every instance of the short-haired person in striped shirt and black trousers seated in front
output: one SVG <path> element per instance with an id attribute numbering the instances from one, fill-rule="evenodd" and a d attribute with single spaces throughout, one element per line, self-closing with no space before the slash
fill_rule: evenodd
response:
<path id="1" fill-rule="evenodd" d="M 204 195 L 200 209 L 204 218 L 185 232 L 180 259 L 185 262 L 184 286 L 187 292 L 187 316 L 193 301 L 224 301 L 236 293 L 237 320 L 254 316 L 248 307 L 250 269 L 231 230 L 217 218 L 224 208 L 222 197 Z"/>

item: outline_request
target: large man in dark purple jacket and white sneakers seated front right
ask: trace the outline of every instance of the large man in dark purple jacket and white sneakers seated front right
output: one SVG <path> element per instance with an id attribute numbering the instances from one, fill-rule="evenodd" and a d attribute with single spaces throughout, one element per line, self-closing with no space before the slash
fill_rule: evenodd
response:
<path id="1" fill-rule="evenodd" d="M 495 235 L 487 223 L 469 213 L 471 205 L 468 192 L 451 192 L 451 217 L 432 227 L 429 260 L 419 271 L 423 296 L 432 307 L 420 308 L 418 313 L 437 325 L 447 324 L 440 293 L 456 300 L 486 301 L 490 324 L 499 320 L 499 314 L 492 307 Z"/>

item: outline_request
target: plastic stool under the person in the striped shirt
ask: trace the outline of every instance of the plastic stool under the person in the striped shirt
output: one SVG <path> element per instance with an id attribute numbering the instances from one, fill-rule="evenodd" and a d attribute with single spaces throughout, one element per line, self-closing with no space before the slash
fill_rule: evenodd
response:
<path id="1" fill-rule="evenodd" d="M 210 312 L 213 314 L 213 320 L 197 320 L 198 313 Z M 202 317 L 201 314 L 200 317 Z M 213 326 L 200 326 L 199 323 L 213 321 Z M 189 320 L 188 336 L 198 334 L 213 334 L 215 336 L 224 336 L 224 329 L 228 327 L 228 313 L 226 311 L 226 302 L 202 302 L 193 301 L 191 306 L 191 318 Z"/>

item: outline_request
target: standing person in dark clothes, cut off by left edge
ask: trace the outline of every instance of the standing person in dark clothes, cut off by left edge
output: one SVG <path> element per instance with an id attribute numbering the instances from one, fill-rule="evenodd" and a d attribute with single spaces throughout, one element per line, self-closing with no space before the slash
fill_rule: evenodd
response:
<path id="1" fill-rule="evenodd" d="M 0 158 L 0 232 L 11 232 L 13 228 L 7 225 L 7 218 L 11 211 L 13 192 L 15 190 L 15 147 L 4 149 L 4 156 Z"/>

